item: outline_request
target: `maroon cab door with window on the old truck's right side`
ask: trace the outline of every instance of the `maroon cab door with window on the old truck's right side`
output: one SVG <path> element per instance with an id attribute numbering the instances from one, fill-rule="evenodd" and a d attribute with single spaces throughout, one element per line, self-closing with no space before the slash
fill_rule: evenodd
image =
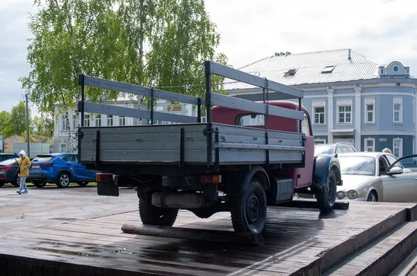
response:
<path id="1" fill-rule="evenodd" d="M 311 133 L 310 117 L 306 112 L 302 121 L 302 132 L 306 135 L 305 166 L 297 169 L 297 188 L 309 186 L 313 182 L 314 137 Z"/>

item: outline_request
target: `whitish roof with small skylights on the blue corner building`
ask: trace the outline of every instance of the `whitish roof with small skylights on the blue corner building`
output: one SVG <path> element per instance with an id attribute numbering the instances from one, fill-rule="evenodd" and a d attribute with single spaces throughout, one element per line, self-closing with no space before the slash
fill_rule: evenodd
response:
<path id="1" fill-rule="evenodd" d="M 350 51 L 350 59 L 349 57 Z M 322 74 L 326 67 L 333 67 L 332 73 Z M 378 78 L 379 64 L 361 53 L 350 49 L 318 51 L 311 53 L 291 53 L 273 55 L 239 68 L 261 78 L 268 78 L 284 85 L 303 85 L 312 83 L 335 83 L 349 80 Z M 293 76 L 284 76 L 288 70 L 295 69 Z M 245 83 L 230 83 L 224 80 L 224 89 L 252 88 Z M 229 84 L 228 84 L 229 83 Z"/>

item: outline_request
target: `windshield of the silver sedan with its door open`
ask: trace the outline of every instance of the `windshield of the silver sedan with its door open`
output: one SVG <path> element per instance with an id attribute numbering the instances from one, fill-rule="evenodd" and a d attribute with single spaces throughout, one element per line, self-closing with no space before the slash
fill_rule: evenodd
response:
<path id="1" fill-rule="evenodd" d="M 375 158 L 368 156 L 340 156 L 341 173 L 343 175 L 375 176 Z"/>

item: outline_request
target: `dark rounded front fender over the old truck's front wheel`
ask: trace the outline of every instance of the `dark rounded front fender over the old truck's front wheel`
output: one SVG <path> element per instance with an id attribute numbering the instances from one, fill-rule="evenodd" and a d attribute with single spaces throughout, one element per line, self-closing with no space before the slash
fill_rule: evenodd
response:
<path id="1" fill-rule="evenodd" d="M 314 158 L 313 189 L 322 190 L 326 187 L 330 170 L 334 171 L 337 184 L 341 185 L 341 165 L 338 159 L 329 154 L 321 154 Z"/>

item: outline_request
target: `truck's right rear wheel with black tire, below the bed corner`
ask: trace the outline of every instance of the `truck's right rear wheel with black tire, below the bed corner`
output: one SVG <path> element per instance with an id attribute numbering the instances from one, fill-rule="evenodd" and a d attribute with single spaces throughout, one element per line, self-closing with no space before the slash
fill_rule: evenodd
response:
<path id="1" fill-rule="evenodd" d="M 259 180 L 252 179 L 244 193 L 231 198 L 230 210 L 235 232 L 263 231 L 266 221 L 266 195 Z"/>

